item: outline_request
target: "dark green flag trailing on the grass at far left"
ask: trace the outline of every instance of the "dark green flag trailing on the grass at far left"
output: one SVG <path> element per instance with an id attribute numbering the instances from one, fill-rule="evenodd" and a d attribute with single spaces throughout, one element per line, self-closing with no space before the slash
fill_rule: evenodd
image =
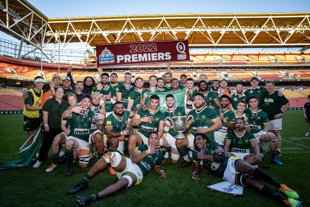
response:
<path id="1" fill-rule="evenodd" d="M 31 145 L 21 149 L 20 155 L 22 159 L 14 160 L 9 162 L 0 163 L 0 170 L 2 169 L 9 169 L 9 168 L 20 168 L 20 167 L 27 167 L 33 160 L 34 155 L 38 151 L 40 142 L 41 142 L 41 131 L 42 131 L 42 124 L 41 127 L 38 128 L 33 135 L 33 142 Z"/>

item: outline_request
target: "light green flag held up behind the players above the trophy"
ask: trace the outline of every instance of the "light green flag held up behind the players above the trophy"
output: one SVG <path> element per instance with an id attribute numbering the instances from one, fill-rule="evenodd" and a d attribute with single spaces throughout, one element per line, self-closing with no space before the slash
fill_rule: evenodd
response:
<path id="1" fill-rule="evenodd" d="M 154 92 L 146 92 L 146 94 L 148 94 L 148 97 L 146 97 L 145 100 L 145 104 L 147 106 L 149 106 L 149 101 L 150 101 L 150 97 L 152 95 L 157 95 L 159 96 L 159 106 L 157 107 L 157 109 L 159 109 L 162 112 L 165 112 L 167 110 L 167 105 L 166 105 L 166 96 L 168 94 L 172 94 L 174 96 L 175 99 L 175 106 L 182 106 L 185 107 L 186 106 L 186 99 L 185 99 L 185 94 L 186 94 L 186 90 L 180 90 L 180 91 L 168 91 L 168 92 L 161 92 L 161 93 L 154 93 Z"/>

